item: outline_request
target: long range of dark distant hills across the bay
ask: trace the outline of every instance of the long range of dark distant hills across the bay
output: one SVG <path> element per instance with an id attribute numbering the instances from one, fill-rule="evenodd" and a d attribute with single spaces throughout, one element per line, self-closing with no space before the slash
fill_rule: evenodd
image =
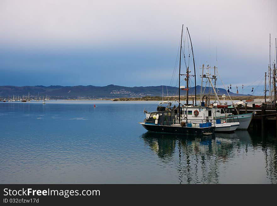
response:
<path id="1" fill-rule="evenodd" d="M 162 96 L 162 89 L 164 96 L 177 96 L 178 87 L 170 86 L 149 86 L 149 87 L 123 87 L 118 85 L 110 84 L 105 87 L 96 87 L 92 85 L 88 86 L 0 86 L 0 97 L 22 97 L 30 96 L 36 98 L 39 93 L 39 96 L 50 96 L 51 99 L 98 99 L 98 98 L 132 98 L 132 97 L 145 97 L 145 96 Z M 189 95 L 194 95 L 195 87 L 189 88 Z M 225 89 L 217 88 L 219 90 L 218 95 L 226 94 Z M 200 94 L 201 86 L 196 86 L 196 94 Z M 181 95 L 184 96 L 186 91 L 181 90 Z M 206 87 L 205 92 L 208 92 L 208 87 Z M 243 94 L 236 94 L 229 92 L 230 96 L 248 96 Z"/>

